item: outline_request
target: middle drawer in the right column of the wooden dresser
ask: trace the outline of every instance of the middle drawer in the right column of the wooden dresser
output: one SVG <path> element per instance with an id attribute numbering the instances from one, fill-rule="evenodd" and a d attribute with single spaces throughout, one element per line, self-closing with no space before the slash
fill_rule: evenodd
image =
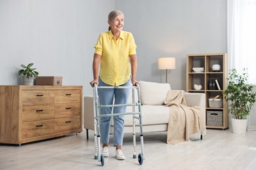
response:
<path id="1" fill-rule="evenodd" d="M 55 118 L 80 115 L 80 103 L 56 104 L 54 107 Z"/>

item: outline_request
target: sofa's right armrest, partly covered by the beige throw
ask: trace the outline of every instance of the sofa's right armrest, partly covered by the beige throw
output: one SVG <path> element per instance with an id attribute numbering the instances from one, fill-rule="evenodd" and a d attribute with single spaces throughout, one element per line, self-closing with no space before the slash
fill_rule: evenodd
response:
<path id="1" fill-rule="evenodd" d="M 203 119 L 205 120 L 205 93 L 184 93 L 184 97 L 186 105 L 200 106 Z"/>

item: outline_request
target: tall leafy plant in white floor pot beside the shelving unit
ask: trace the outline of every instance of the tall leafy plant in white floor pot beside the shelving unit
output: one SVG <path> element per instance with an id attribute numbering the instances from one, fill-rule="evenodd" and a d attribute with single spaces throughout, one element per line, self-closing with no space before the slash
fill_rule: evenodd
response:
<path id="1" fill-rule="evenodd" d="M 242 73 L 237 69 L 230 69 L 228 77 L 228 86 L 223 91 L 224 99 L 229 101 L 228 112 L 233 114 L 231 119 L 233 133 L 246 133 L 247 119 L 250 110 L 255 103 L 255 95 L 252 84 L 247 84 L 248 73 L 244 68 Z"/>

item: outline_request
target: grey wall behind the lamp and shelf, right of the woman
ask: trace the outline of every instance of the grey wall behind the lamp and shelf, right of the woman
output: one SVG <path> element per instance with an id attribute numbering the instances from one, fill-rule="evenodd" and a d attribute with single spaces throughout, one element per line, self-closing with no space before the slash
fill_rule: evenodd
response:
<path id="1" fill-rule="evenodd" d="M 124 30 L 138 46 L 139 80 L 165 82 L 158 58 L 175 57 L 168 82 L 186 90 L 186 54 L 227 52 L 226 1 L 118 0 L 116 9 L 124 12 Z"/>

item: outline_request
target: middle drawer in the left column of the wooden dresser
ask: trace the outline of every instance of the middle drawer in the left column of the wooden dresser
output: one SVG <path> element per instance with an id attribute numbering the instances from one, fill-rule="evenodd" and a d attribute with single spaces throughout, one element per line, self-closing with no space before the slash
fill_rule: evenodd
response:
<path id="1" fill-rule="evenodd" d="M 37 105 L 22 107 L 22 122 L 54 118 L 53 105 Z"/>

